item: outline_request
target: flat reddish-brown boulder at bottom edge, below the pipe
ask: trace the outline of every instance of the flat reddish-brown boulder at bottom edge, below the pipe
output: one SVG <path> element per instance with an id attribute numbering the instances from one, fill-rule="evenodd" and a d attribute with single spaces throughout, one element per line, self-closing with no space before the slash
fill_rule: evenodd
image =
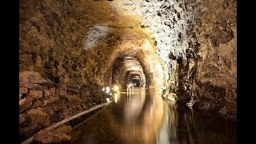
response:
<path id="1" fill-rule="evenodd" d="M 70 140 L 70 138 L 70 135 L 50 130 L 41 130 L 34 135 L 34 141 L 40 143 L 61 143 Z"/>

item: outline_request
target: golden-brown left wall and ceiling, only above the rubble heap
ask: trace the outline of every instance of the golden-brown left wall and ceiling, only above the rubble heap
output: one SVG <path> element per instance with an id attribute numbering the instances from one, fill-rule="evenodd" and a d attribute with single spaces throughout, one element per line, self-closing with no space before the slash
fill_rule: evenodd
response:
<path id="1" fill-rule="evenodd" d="M 141 57 L 141 64 L 151 67 L 144 54 L 154 55 L 155 49 L 140 25 L 139 2 L 22 0 L 19 15 L 20 71 L 36 71 L 57 83 L 103 86 L 110 85 L 120 54 Z"/>

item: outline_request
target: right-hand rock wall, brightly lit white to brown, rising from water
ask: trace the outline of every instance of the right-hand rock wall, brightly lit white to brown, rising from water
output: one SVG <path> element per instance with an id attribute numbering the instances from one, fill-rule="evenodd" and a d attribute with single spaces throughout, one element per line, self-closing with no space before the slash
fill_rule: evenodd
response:
<path id="1" fill-rule="evenodd" d="M 164 63 L 165 97 L 236 118 L 237 2 L 142 0 L 143 27 L 154 31 Z"/>

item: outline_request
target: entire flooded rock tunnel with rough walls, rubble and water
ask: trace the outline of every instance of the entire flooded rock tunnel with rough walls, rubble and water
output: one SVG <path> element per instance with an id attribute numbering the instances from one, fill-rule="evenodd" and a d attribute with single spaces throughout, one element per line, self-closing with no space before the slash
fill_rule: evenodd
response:
<path id="1" fill-rule="evenodd" d="M 20 0 L 20 143 L 236 143 L 234 0 Z"/>

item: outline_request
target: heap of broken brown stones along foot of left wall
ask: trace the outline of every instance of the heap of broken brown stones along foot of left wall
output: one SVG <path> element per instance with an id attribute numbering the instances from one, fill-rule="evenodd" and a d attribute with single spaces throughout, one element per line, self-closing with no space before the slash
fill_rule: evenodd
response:
<path id="1" fill-rule="evenodd" d="M 76 83 L 58 85 L 33 71 L 22 73 L 22 78 L 29 79 L 30 75 L 34 75 L 34 79 L 41 79 L 43 83 L 30 83 L 30 81 L 26 82 L 27 87 L 20 85 L 22 92 L 19 101 L 21 141 L 54 122 L 106 102 L 102 96 L 101 86 Z M 21 83 L 23 84 L 24 81 Z M 69 92 L 70 89 L 73 91 Z M 68 131 L 70 128 L 63 126 L 60 128 L 60 131 L 62 130 Z"/>

